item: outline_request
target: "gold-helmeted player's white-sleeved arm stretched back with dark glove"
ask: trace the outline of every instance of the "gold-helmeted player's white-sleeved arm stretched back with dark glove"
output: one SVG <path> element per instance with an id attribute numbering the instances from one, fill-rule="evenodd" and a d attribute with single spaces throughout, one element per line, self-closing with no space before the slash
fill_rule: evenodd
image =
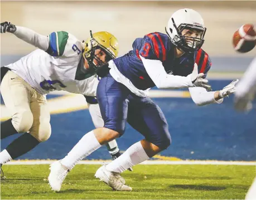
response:
<path id="1" fill-rule="evenodd" d="M 10 22 L 3 22 L 1 23 L 1 33 L 5 32 L 13 33 L 16 37 L 41 50 L 46 51 L 49 47 L 49 37 L 40 35 L 29 28 L 15 26 Z"/>

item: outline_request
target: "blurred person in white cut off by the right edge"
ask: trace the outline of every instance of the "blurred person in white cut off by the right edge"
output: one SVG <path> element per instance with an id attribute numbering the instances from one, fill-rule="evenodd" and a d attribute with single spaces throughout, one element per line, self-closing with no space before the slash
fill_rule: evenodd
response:
<path id="1" fill-rule="evenodd" d="M 256 94 L 256 57 L 250 63 L 242 79 L 236 86 L 235 109 L 238 111 L 249 111 L 252 109 L 252 101 Z M 256 177 L 245 199 L 256 199 Z"/>

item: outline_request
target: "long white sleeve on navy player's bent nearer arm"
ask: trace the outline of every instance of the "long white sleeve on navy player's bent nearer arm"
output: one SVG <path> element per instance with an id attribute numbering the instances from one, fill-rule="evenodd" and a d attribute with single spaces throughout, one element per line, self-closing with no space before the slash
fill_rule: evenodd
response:
<path id="1" fill-rule="evenodd" d="M 146 59 L 141 55 L 140 57 L 147 74 L 159 89 L 176 89 L 193 86 L 190 75 L 175 76 L 166 74 L 165 68 L 160 60 Z"/>

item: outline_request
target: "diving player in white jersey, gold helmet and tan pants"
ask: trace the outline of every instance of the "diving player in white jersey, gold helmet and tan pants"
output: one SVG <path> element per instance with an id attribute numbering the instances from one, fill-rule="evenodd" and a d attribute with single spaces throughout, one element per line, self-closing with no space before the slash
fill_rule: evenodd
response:
<path id="1" fill-rule="evenodd" d="M 95 99 L 99 82 L 96 73 L 117 57 L 117 38 L 108 32 L 90 32 L 90 37 L 81 42 L 65 31 L 43 36 L 10 22 L 1 23 L 1 33 L 5 32 L 39 49 L 1 67 L 1 94 L 12 112 L 12 118 L 1 123 L 1 139 L 24 133 L 0 153 L 1 167 L 49 139 L 51 125 L 46 94 L 50 91 L 83 94 L 88 100 L 94 125 L 103 126 Z M 120 155 L 115 140 L 109 141 L 107 148 L 112 158 Z"/>

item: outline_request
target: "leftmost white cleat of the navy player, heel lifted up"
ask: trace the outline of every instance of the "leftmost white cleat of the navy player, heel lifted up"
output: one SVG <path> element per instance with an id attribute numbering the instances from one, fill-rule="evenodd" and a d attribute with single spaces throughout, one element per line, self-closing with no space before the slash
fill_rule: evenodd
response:
<path id="1" fill-rule="evenodd" d="M 64 169 L 64 167 L 60 163 L 60 160 L 57 160 L 50 166 L 51 167 L 49 169 L 51 170 L 51 172 L 48 177 L 49 185 L 51 186 L 51 189 L 53 191 L 59 192 L 61 184 L 66 178 L 67 172 L 69 171 L 67 169 Z"/>

